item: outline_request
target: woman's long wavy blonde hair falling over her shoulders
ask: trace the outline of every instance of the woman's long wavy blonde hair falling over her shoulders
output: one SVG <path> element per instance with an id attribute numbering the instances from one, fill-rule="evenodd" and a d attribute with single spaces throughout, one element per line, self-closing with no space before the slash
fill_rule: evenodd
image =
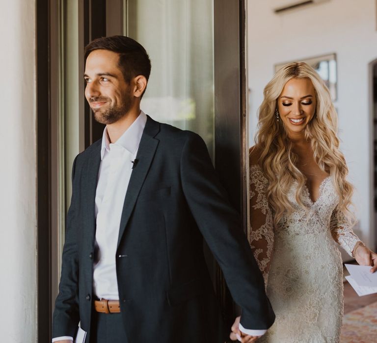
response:
<path id="1" fill-rule="evenodd" d="M 348 168 L 344 155 L 339 150 L 337 137 L 338 118 L 330 93 L 316 71 L 304 62 L 285 65 L 275 73 L 264 89 L 264 100 L 259 108 L 258 132 L 255 137 L 259 165 L 269 181 L 267 198 L 274 211 L 274 224 L 285 211 L 293 207 L 287 194 L 293 181 L 297 181 L 297 203 L 308 210 L 302 202 L 306 177 L 296 167 L 298 156 L 292 149 L 284 124 L 276 121 L 275 108 L 285 84 L 292 78 L 309 78 L 317 99 L 313 118 L 307 124 L 304 134 L 310 141 L 315 161 L 323 172 L 329 173 L 339 196 L 337 217 L 345 218 L 350 224 L 354 216 L 350 211 L 353 186 L 347 181 Z"/>

